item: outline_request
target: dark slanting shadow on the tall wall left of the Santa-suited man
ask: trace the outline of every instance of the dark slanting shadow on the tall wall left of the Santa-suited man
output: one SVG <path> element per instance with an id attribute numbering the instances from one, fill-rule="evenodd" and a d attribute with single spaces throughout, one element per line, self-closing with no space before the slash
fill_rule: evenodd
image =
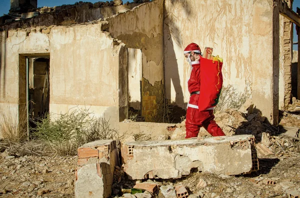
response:
<path id="1" fill-rule="evenodd" d="M 180 4 L 182 9 L 185 11 L 186 15 L 190 15 L 190 5 L 187 1 L 181 1 L 181 0 L 170 0 L 171 4 Z M 170 44 L 172 47 L 168 47 L 167 53 L 164 51 L 164 59 L 169 59 L 167 62 L 169 62 L 170 67 L 168 68 L 172 72 L 168 72 L 167 75 L 165 75 L 165 94 L 167 97 L 171 98 L 171 84 L 173 84 L 173 87 L 175 89 L 175 103 L 176 105 L 184 105 L 183 108 L 186 107 L 187 103 L 184 103 L 184 96 L 183 96 L 183 88 L 180 85 L 180 78 L 179 78 L 179 71 L 178 71 L 178 64 L 176 59 L 176 54 L 174 51 L 174 42 L 178 46 L 181 47 L 182 53 L 185 46 L 182 46 L 182 37 L 180 35 L 180 31 L 178 26 L 176 25 L 176 16 L 173 13 L 164 11 L 164 41 L 166 40 L 168 43 L 164 43 L 164 45 Z M 171 36 L 174 35 L 174 36 Z M 164 61 L 166 62 L 166 61 Z M 164 67 L 166 69 L 166 67 Z M 181 106 L 182 108 L 182 106 Z"/>

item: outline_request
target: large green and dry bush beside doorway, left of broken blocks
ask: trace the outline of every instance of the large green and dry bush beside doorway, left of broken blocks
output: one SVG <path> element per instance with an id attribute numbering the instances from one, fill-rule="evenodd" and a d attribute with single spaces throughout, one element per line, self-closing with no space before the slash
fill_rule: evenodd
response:
<path id="1" fill-rule="evenodd" d="M 32 138 L 44 141 L 58 155 L 74 156 L 77 148 L 85 143 L 116 137 L 116 131 L 109 128 L 108 122 L 93 117 L 85 108 L 69 110 L 56 119 L 48 115 L 36 122 Z"/>

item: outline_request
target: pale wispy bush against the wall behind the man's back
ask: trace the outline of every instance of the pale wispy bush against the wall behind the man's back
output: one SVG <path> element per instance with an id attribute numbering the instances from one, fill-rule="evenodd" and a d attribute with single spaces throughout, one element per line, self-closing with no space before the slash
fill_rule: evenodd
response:
<path id="1" fill-rule="evenodd" d="M 222 87 L 214 112 L 224 111 L 225 109 L 239 109 L 249 97 L 249 91 L 237 92 L 232 85 Z"/>

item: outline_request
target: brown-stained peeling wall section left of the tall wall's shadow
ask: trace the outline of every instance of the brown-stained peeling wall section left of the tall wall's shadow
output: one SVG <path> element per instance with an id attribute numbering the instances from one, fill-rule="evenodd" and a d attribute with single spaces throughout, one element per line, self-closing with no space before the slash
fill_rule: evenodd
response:
<path id="1" fill-rule="evenodd" d="M 114 38 L 124 42 L 128 48 L 141 49 L 141 96 L 150 97 L 153 103 L 149 105 L 149 101 L 142 99 L 142 116 L 151 121 L 156 104 L 163 102 L 163 86 L 160 86 L 163 84 L 163 1 L 144 3 L 106 20 Z M 147 84 L 150 86 L 145 88 Z"/>

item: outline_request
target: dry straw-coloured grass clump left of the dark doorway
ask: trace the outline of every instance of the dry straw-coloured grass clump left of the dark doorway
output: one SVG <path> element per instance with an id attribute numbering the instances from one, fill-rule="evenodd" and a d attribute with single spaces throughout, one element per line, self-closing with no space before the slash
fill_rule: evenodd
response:
<path id="1" fill-rule="evenodd" d="M 26 109 L 19 110 L 18 116 L 12 115 L 11 111 L 5 113 L 1 108 L 0 134 L 8 142 L 18 143 L 25 140 L 27 134 Z"/>

